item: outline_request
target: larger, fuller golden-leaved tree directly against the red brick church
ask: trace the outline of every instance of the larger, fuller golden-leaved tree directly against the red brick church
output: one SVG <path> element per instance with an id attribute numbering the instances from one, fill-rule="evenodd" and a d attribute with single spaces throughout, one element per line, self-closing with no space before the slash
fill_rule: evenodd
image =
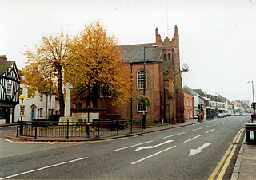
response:
<path id="1" fill-rule="evenodd" d="M 122 61 L 117 39 L 100 22 L 92 22 L 74 38 L 73 57 L 65 73 L 74 86 L 74 100 L 122 104 L 130 98 L 130 66 Z"/>

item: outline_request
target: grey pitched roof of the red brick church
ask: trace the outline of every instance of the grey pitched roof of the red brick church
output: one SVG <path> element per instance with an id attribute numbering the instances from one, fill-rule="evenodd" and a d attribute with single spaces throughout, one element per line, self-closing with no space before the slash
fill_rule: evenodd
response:
<path id="1" fill-rule="evenodd" d="M 139 44 L 139 45 L 121 45 L 122 60 L 127 62 L 143 62 L 144 47 L 145 61 L 159 61 L 162 56 L 162 47 L 153 47 L 155 43 Z"/>

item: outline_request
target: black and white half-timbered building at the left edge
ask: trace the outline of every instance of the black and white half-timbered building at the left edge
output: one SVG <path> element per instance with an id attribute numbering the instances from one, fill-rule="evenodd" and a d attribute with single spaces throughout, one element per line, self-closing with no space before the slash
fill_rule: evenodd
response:
<path id="1" fill-rule="evenodd" d="M 14 122 L 20 80 L 15 61 L 7 61 L 5 55 L 0 55 L 0 124 Z"/>

